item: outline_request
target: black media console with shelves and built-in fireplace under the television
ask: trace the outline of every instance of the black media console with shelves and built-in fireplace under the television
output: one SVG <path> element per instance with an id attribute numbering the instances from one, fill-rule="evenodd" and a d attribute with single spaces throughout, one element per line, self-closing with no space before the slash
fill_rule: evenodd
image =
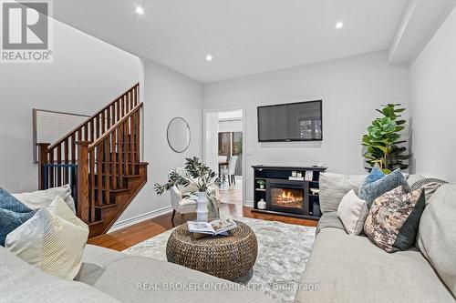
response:
<path id="1" fill-rule="evenodd" d="M 319 188 L 320 173 L 327 167 L 279 167 L 253 166 L 254 168 L 254 209 L 252 212 L 300 217 L 318 220 L 321 217 L 319 196 L 311 189 Z M 312 172 L 312 180 L 290 180 L 292 172 Z M 264 180 L 260 187 L 259 180 Z M 265 209 L 258 202 L 265 201 Z"/>

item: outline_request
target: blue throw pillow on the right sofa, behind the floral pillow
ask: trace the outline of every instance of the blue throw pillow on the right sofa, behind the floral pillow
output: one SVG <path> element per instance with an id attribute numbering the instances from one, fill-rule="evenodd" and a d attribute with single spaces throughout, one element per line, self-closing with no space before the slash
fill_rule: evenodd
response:
<path id="1" fill-rule="evenodd" d="M 399 186 L 403 186 L 407 193 L 411 191 L 407 180 L 398 168 L 375 182 L 361 186 L 358 196 L 366 201 L 366 205 L 370 209 L 376 198 Z"/>

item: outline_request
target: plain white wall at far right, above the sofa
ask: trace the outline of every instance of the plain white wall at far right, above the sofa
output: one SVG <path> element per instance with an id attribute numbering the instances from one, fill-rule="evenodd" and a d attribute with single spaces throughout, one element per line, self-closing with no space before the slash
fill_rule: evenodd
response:
<path id="1" fill-rule="evenodd" d="M 410 67 L 413 153 L 418 174 L 456 181 L 456 10 Z"/>

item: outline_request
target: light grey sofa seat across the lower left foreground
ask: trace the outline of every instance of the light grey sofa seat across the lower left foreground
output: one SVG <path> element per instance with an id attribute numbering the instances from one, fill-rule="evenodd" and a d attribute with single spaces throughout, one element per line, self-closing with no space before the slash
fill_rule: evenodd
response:
<path id="1" fill-rule="evenodd" d="M 49 276 L 0 247 L 0 302 L 275 301 L 189 268 L 88 245 L 75 281 Z"/>

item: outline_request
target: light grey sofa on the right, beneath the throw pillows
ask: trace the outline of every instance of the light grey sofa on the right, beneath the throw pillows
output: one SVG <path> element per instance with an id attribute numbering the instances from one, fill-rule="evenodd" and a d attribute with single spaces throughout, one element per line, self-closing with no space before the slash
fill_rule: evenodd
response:
<path id="1" fill-rule="evenodd" d="M 346 177 L 347 188 L 337 190 L 347 193 L 360 180 Z M 324 196 L 325 182 L 320 179 Z M 430 197 L 416 247 L 395 253 L 376 247 L 368 237 L 347 235 L 334 199 L 320 197 L 320 203 L 326 213 L 318 223 L 295 302 L 456 301 L 456 185 L 444 185 Z"/>

